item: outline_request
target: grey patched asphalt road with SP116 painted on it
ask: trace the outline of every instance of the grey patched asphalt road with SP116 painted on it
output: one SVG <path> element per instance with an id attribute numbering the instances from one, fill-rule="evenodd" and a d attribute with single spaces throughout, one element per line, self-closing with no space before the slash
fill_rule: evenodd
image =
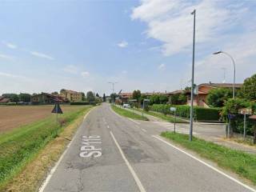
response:
<path id="1" fill-rule="evenodd" d="M 96 107 L 42 191 L 255 191 L 174 148 L 162 130 Z"/>

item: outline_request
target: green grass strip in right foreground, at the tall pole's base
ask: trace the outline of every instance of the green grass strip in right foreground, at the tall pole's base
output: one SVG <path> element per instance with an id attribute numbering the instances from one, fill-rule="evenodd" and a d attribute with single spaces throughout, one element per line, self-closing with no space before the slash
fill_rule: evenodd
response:
<path id="1" fill-rule="evenodd" d="M 190 142 L 187 134 L 163 132 L 161 136 L 195 151 L 203 158 L 208 158 L 216 162 L 218 166 L 234 171 L 234 173 L 256 184 L 256 155 L 246 154 L 239 150 L 231 150 L 226 146 L 219 146 L 200 138 L 193 138 L 193 141 Z"/>

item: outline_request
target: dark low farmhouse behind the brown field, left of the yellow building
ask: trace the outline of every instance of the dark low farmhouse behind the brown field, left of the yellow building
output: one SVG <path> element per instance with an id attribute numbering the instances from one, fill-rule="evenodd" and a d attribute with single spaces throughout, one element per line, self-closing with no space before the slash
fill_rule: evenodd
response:
<path id="1" fill-rule="evenodd" d="M 35 94 L 31 96 L 32 104 L 54 104 L 56 102 L 65 102 L 65 99 L 60 96 L 47 93 Z"/>

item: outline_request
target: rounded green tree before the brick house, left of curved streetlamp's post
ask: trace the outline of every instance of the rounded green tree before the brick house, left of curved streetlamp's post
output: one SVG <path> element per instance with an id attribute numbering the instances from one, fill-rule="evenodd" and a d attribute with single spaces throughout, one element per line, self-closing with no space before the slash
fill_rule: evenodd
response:
<path id="1" fill-rule="evenodd" d="M 209 91 L 206 102 L 210 106 L 221 107 L 229 98 L 232 98 L 232 90 L 216 88 Z"/>

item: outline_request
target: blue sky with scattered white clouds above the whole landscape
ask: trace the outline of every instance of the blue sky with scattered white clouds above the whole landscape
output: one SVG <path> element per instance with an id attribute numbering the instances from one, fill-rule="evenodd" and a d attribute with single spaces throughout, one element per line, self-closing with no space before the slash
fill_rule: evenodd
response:
<path id="1" fill-rule="evenodd" d="M 0 94 L 102 95 L 236 82 L 256 73 L 256 1 L 1 1 Z M 225 74 L 225 78 L 224 78 Z"/>

